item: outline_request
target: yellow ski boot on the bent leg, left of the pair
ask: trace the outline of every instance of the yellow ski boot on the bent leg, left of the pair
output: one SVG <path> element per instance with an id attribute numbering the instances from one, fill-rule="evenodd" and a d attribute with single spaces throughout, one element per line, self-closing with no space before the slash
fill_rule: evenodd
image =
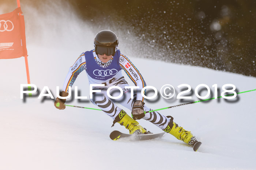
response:
<path id="1" fill-rule="evenodd" d="M 116 116 L 112 127 L 115 123 L 120 123 L 121 126 L 124 126 L 129 130 L 130 134 L 149 134 L 150 131 L 147 131 L 136 120 L 133 120 L 124 110 L 121 110 L 120 113 Z"/>

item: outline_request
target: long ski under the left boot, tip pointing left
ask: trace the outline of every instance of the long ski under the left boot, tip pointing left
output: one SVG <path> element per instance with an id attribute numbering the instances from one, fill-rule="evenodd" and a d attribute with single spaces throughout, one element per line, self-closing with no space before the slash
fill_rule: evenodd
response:
<path id="1" fill-rule="evenodd" d="M 129 141 L 144 141 L 144 140 L 150 140 L 155 138 L 161 138 L 163 134 L 165 134 L 165 132 L 157 133 L 157 134 L 131 135 L 131 134 L 121 133 L 120 131 L 115 130 L 110 133 L 109 137 L 113 141 L 117 141 L 120 138 L 127 138 Z"/>

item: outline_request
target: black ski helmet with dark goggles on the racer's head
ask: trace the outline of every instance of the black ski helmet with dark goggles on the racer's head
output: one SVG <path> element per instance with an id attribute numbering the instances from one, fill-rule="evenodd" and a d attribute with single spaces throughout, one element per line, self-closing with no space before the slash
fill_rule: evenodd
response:
<path id="1" fill-rule="evenodd" d="M 114 56 L 118 48 L 118 37 L 110 30 L 99 31 L 94 38 L 94 47 L 96 54 Z"/>

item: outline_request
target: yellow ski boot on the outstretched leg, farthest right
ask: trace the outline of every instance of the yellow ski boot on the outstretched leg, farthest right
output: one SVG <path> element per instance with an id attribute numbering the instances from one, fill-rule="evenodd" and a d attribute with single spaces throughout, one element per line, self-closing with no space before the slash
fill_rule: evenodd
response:
<path id="1" fill-rule="evenodd" d="M 189 145 L 194 146 L 197 141 L 196 137 L 190 131 L 186 131 L 183 127 L 178 126 L 175 122 L 173 122 L 172 116 L 167 116 L 167 118 L 171 118 L 167 127 L 163 130 L 166 133 L 173 135 L 175 138 L 188 143 Z"/>

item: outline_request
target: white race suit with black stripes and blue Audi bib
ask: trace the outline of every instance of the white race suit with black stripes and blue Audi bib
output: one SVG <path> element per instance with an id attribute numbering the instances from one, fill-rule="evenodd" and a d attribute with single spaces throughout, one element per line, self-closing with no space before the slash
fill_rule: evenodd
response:
<path id="1" fill-rule="evenodd" d="M 122 110 L 122 108 L 116 106 L 115 102 L 118 102 L 122 106 L 132 110 L 132 104 L 135 100 L 144 101 L 140 91 L 146 86 L 146 83 L 139 70 L 127 58 L 127 56 L 120 53 L 120 50 L 117 50 L 112 59 L 106 63 L 101 62 L 96 55 L 95 50 L 83 52 L 74 65 L 69 68 L 69 72 L 63 85 L 63 91 L 68 92 L 68 86 L 73 86 L 77 76 L 83 70 L 86 70 L 89 84 L 105 84 L 104 87 L 100 87 L 101 92 L 94 93 L 91 102 L 98 106 L 112 119 L 115 119 L 118 113 Z M 131 89 L 125 88 L 125 86 L 129 85 L 121 72 L 122 70 L 125 71 L 135 86 L 139 87 L 139 92 L 134 93 L 133 99 L 131 98 Z M 123 89 L 123 96 L 120 99 L 114 100 L 108 97 L 107 89 L 111 86 L 119 86 Z M 113 93 L 112 96 L 118 96 L 119 94 L 120 92 L 117 94 Z M 144 111 L 149 110 L 151 109 L 145 105 Z M 170 121 L 170 119 L 157 111 L 146 113 L 143 119 L 150 121 L 162 130 L 167 127 L 167 124 Z"/>

